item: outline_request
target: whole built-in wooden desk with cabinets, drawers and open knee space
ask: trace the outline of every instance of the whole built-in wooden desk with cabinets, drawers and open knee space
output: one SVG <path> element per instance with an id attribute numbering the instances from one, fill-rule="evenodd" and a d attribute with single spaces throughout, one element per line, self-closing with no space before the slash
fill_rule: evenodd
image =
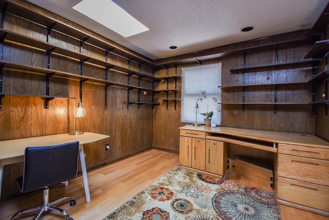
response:
<path id="1" fill-rule="evenodd" d="M 227 169 L 240 172 L 264 186 L 268 182 L 281 204 L 329 216 L 329 142 L 309 134 L 221 126 L 179 130 L 181 166 L 222 177 Z M 230 158 L 234 148 L 267 152 L 271 168 Z"/>

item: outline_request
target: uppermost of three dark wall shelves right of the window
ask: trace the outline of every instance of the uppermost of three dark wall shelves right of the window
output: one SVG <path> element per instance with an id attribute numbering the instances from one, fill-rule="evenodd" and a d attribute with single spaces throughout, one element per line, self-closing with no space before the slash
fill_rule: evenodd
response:
<path id="1" fill-rule="evenodd" d="M 268 65 L 260 65 L 260 66 L 249 66 L 249 67 L 242 67 L 242 68 L 235 68 L 230 69 L 232 73 L 238 72 L 245 72 L 245 71 L 252 71 L 252 70 L 262 70 L 267 68 L 277 68 L 277 67 L 293 67 L 296 65 L 309 65 L 313 64 L 316 65 L 321 59 L 316 60 L 302 60 L 298 62 L 291 62 L 291 63 L 280 63 L 280 64 L 268 64 Z"/>

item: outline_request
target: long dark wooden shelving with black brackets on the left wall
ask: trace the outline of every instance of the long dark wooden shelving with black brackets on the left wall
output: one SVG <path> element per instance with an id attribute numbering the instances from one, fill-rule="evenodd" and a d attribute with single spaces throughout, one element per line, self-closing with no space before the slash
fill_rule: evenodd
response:
<path id="1" fill-rule="evenodd" d="M 73 26 L 69 26 L 67 24 L 64 24 L 63 22 L 59 21 L 59 20 L 55 20 L 49 17 L 46 17 L 44 15 L 38 14 L 35 11 L 31 11 L 28 8 L 24 8 L 21 7 L 19 5 L 15 5 L 15 4 L 11 4 L 11 3 L 1 3 L 1 4 L 6 4 L 6 5 L 2 5 L 2 8 L 4 8 L 3 10 L 3 16 L 2 16 L 2 26 L 0 28 L 0 48 L 1 48 L 1 61 L 0 61 L 0 67 L 1 70 L 3 70 L 4 68 L 12 68 L 12 69 L 16 69 L 16 70 L 23 70 L 23 71 L 29 71 L 32 74 L 44 74 L 47 76 L 47 78 L 49 77 L 56 77 L 56 76 L 60 76 L 60 77 L 65 77 L 65 78 L 69 78 L 69 79 L 74 79 L 74 80 L 79 80 L 80 81 L 80 91 L 82 91 L 82 83 L 83 82 L 97 82 L 97 83 L 102 83 L 105 85 L 105 108 L 107 108 L 107 87 L 108 86 L 119 86 L 119 87 L 123 87 L 123 88 L 127 88 L 128 89 L 128 108 L 131 104 L 138 104 L 138 106 L 140 104 L 152 104 L 152 106 L 154 106 L 157 103 L 153 103 L 153 102 L 140 102 L 139 97 L 138 97 L 138 102 L 130 102 L 130 90 L 136 89 L 138 90 L 138 94 L 140 94 L 141 91 L 149 91 L 151 93 L 155 93 L 156 91 L 154 89 L 150 89 L 150 88 L 144 88 L 140 86 L 140 80 L 149 80 L 152 83 L 155 81 L 158 81 L 160 79 L 151 76 L 150 74 L 144 74 L 140 71 L 140 67 L 141 65 L 147 64 L 149 67 L 152 67 L 152 61 L 149 60 L 148 58 L 145 58 L 143 56 L 141 56 L 140 54 L 137 54 L 133 51 L 130 51 L 129 49 L 125 49 L 120 45 L 114 45 L 115 43 L 111 44 L 108 42 L 105 42 L 102 39 L 98 39 L 95 36 L 93 36 L 92 34 L 89 33 L 85 33 L 81 30 L 78 30 L 77 28 L 73 27 Z M 14 16 L 19 16 L 19 17 L 23 17 L 23 19 L 29 20 L 33 23 L 39 24 L 41 25 L 43 28 L 47 29 L 48 35 L 47 35 L 47 42 L 45 41 L 41 41 L 38 39 L 34 39 L 34 38 L 30 38 L 29 36 L 25 36 L 23 34 L 20 33 L 15 33 L 13 31 L 9 31 L 4 29 L 5 28 L 5 15 L 6 13 L 10 13 L 13 14 Z M 50 43 L 50 35 L 52 31 L 57 31 L 57 32 L 61 32 L 69 37 L 71 37 L 72 39 L 75 39 L 76 41 L 80 41 L 80 52 L 76 52 L 70 49 L 66 49 L 63 47 L 60 47 L 58 45 L 53 45 Z M 23 65 L 23 64 L 19 64 L 19 63 L 13 63 L 13 62 L 9 62 L 9 61 L 4 61 L 3 59 L 3 45 L 5 42 L 14 42 L 14 43 L 19 43 L 19 44 L 23 44 L 26 46 L 30 46 L 30 47 L 34 47 L 37 49 L 41 49 L 45 51 L 45 54 L 47 56 L 47 63 L 45 63 L 45 67 L 38 67 L 38 66 L 29 66 L 29 65 Z M 95 47 L 99 47 L 102 50 L 104 50 L 104 60 L 100 60 L 100 59 L 96 59 L 94 57 L 90 57 L 87 56 L 86 54 L 82 53 L 83 50 L 83 45 L 85 43 L 88 43 L 92 46 Z M 71 74 L 70 72 L 63 72 L 63 71 L 58 71 L 58 70 L 54 70 L 54 69 L 50 69 L 49 68 L 49 57 L 51 56 L 52 53 L 57 53 L 60 54 L 61 56 L 66 56 L 69 59 L 76 59 L 80 61 L 80 69 L 79 69 L 79 75 L 77 74 Z M 119 56 L 121 58 L 124 58 L 127 60 L 127 66 L 123 67 L 111 62 L 107 62 L 107 57 L 108 57 L 108 53 L 112 53 L 115 56 Z M 136 62 L 138 63 L 138 71 L 131 69 L 130 68 L 130 64 L 131 62 Z M 87 77 L 83 75 L 82 72 L 82 65 L 83 64 L 95 64 L 100 66 L 101 68 L 104 68 L 104 78 L 103 79 L 98 79 L 98 78 L 93 78 L 93 77 Z M 118 71 L 119 73 L 125 74 L 127 75 L 127 84 L 122 84 L 122 83 L 118 83 L 118 82 L 112 82 L 107 80 L 107 71 L 108 70 L 115 70 Z M 130 77 L 131 76 L 135 76 L 138 77 L 138 85 L 132 85 L 130 83 Z M 2 91 L 2 72 L 0 73 L 0 78 L 1 78 L 1 85 L 0 85 L 0 107 L 2 106 L 1 100 L 4 96 L 6 95 L 12 95 L 9 93 L 3 93 Z M 47 87 L 49 87 L 49 82 L 47 81 Z M 24 95 L 24 94 L 21 94 Z M 49 94 L 45 94 L 47 103 L 50 99 L 53 98 L 60 98 L 60 97 L 50 97 L 48 96 Z M 80 98 L 81 98 L 82 94 L 80 92 Z M 152 95 L 153 97 L 153 95 Z M 63 97 L 61 97 L 63 98 Z M 70 97 L 67 97 L 70 98 Z M 45 107 L 48 107 L 48 104 L 45 104 Z"/>

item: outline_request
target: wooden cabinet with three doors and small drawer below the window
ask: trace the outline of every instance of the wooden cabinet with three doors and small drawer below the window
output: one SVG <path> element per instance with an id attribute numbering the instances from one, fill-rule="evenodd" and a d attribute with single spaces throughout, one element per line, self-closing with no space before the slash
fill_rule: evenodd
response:
<path id="1" fill-rule="evenodd" d="M 224 176 L 227 155 L 227 143 L 207 140 L 206 132 L 180 130 L 180 165 Z"/>

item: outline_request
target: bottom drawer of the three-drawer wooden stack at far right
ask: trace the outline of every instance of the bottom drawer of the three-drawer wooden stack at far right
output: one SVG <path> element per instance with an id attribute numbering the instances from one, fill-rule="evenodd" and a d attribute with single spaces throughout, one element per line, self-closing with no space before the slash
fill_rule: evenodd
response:
<path id="1" fill-rule="evenodd" d="M 278 177 L 277 198 L 329 211 L 329 187 Z"/>

